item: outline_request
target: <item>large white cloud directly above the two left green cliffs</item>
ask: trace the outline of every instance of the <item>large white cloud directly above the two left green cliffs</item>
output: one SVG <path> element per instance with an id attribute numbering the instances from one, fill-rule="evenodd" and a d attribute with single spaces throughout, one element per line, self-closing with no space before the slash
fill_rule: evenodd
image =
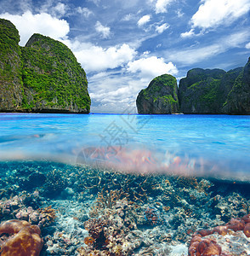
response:
<path id="1" fill-rule="evenodd" d="M 70 26 L 66 20 L 60 20 L 45 13 L 32 15 L 30 11 L 26 11 L 23 15 L 5 13 L 0 16 L 14 23 L 20 32 L 20 45 L 25 45 L 33 33 L 41 33 L 44 36 L 59 40 L 66 38 L 70 31 Z"/>

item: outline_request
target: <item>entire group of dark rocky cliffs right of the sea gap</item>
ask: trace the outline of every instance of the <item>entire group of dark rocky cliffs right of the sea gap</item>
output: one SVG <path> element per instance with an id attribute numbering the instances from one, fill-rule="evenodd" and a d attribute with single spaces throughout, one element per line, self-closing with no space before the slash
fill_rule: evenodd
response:
<path id="1" fill-rule="evenodd" d="M 229 72 L 191 69 L 179 88 L 169 83 L 170 77 L 175 79 L 167 74 L 157 77 L 139 92 L 138 113 L 250 114 L 250 58 L 245 67 Z"/>

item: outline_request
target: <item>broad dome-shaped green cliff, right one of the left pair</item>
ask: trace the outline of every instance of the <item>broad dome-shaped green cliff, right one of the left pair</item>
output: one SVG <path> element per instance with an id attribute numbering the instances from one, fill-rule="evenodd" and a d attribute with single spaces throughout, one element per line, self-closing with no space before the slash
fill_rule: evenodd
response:
<path id="1" fill-rule="evenodd" d="M 86 73 L 65 44 L 34 34 L 22 49 L 23 82 L 26 95 L 23 107 L 73 108 L 89 112 L 90 98 Z"/>

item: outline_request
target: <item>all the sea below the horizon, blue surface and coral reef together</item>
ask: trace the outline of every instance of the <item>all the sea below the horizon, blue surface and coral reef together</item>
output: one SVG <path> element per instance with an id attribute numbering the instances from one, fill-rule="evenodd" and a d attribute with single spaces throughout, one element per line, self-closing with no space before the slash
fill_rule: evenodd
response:
<path id="1" fill-rule="evenodd" d="M 249 116 L 0 113 L 0 131 L 1 255 L 250 254 Z"/>

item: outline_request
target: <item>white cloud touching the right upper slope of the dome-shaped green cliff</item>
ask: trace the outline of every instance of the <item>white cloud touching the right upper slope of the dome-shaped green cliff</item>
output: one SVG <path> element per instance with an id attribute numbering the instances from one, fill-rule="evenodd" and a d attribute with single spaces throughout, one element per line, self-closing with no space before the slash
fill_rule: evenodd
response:
<path id="1" fill-rule="evenodd" d="M 134 59 L 136 51 L 128 44 L 104 49 L 92 44 L 71 44 L 69 47 L 87 72 L 104 71 L 107 68 L 122 67 Z"/>

